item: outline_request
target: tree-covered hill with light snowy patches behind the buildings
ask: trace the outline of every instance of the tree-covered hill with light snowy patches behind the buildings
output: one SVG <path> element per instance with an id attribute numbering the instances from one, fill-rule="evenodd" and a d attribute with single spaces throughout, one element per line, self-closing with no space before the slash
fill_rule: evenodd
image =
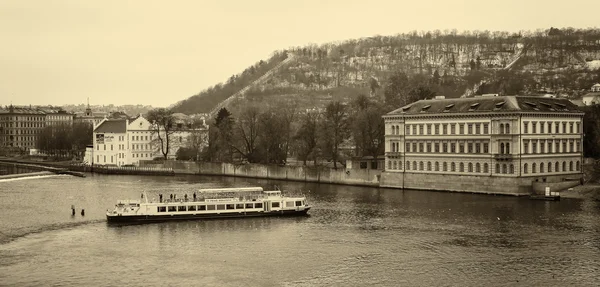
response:
<path id="1" fill-rule="evenodd" d="M 271 70 L 288 57 L 293 59 Z M 302 107 L 314 108 L 332 97 L 344 101 L 361 93 L 386 98 L 393 105 L 433 95 L 577 96 L 596 82 L 600 82 L 600 29 L 413 32 L 278 51 L 227 83 L 172 108 L 209 112 L 248 86 L 237 94 L 242 102 L 293 98 Z"/>

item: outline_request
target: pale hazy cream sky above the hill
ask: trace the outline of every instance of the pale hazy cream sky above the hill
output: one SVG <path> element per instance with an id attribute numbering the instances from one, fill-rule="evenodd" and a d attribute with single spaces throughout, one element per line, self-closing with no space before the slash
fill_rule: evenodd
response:
<path id="1" fill-rule="evenodd" d="M 0 0 L 0 105 L 167 107 L 293 46 L 599 15 L 598 0 Z"/>

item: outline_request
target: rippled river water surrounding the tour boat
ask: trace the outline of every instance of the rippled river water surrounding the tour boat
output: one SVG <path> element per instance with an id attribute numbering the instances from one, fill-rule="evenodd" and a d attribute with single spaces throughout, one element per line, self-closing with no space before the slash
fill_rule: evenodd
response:
<path id="1" fill-rule="evenodd" d="M 117 199 L 278 185 L 309 217 L 108 226 Z M 0 181 L 4 286 L 598 286 L 600 204 L 200 176 Z M 71 215 L 71 205 L 78 214 Z M 79 210 L 85 208 L 85 216 Z"/>

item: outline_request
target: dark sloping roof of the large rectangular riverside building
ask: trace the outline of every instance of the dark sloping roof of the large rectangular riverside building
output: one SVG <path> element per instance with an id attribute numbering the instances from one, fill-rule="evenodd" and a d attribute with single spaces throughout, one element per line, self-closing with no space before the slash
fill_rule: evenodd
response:
<path id="1" fill-rule="evenodd" d="M 482 112 L 581 113 L 577 106 L 567 99 L 497 96 L 420 100 L 396 109 L 387 115 L 456 114 Z"/>

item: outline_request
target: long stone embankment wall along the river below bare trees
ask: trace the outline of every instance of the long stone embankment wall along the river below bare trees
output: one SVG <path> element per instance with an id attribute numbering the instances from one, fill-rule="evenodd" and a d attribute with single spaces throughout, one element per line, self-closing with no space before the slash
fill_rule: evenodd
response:
<path id="1" fill-rule="evenodd" d="M 151 162 L 142 164 L 144 166 L 154 166 Z M 168 161 L 164 165 L 158 164 L 156 166 L 171 168 L 178 174 L 239 176 L 363 186 L 379 186 L 379 177 L 381 175 L 381 171 L 370 169 L 347 170 L 261 164 L 235 165 L 212 162 Z"/>

